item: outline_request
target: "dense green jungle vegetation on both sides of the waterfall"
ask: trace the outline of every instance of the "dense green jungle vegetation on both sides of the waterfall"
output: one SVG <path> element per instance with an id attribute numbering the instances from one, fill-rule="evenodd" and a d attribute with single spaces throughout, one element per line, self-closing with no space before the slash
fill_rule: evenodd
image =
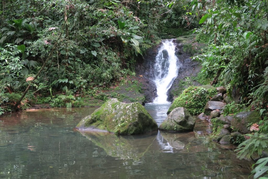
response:
<path id="1" fill-rule="evenodd" d="M 136 59 L 148 48 L 161 38 L 189 35 L 195 28 L 195 40 L 207 45 L 193 57 L 203 67 L 197 79 L 202 83 L 213 79 L 211 85 L 227 87 L 229 98 L 238 96 L 224 115 L 258 110 L 259 133 L 266 135 L 267 6 L 267 0 L 1 1 L 0 115 L 16 105 L 83 106 L 85 96 L 107 100 L 102 90 L 135 75 Z M 189 91 L 198 95 L 188 98 L 207 100 L 204 89 Z M 191 104 L 180 98 L 181 105 Z M 200 112 L 199 105 L 193 107 L 192 114 Z M 261 150 L 256 142 L 263 140 L 260 136 L 242 143 L 248 151 L 243 153 L 249 154 L 245 157 Z M 253 142 L 256 146 L 248 147 Z M 263 173 L 254 170 L 255 178 L 268 171 L 267 160 L 261 162 Z"/>

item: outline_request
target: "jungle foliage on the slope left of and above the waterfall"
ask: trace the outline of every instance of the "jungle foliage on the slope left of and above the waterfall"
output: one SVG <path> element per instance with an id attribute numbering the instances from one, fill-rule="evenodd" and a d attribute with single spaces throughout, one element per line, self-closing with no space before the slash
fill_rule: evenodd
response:
<path id="1" fill-rule="evenodd" d="M 50 96 L 49 103 L 62 106 L 66 99 L 53 103 L 59 99 L 54 94 L 99 93 L 132 75 L 140 54 L 160 42 L 163 22 L 187 26 L 183 6 L 161 0 L 1 1 L 0 113 L 16 102 L 4 94 L 21 96 L 29 84 L 33 95 Z"/>

